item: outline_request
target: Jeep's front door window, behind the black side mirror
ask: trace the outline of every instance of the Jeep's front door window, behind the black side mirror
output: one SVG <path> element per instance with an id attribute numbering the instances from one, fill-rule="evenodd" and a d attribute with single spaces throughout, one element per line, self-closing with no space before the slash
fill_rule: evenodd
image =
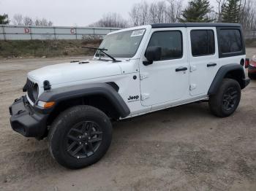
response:
<path id="1" fill-rule="evenodd" d="M 161 60 L 182 58 L 181 31 L 159 31 L 152 34 L 148 47 L 162 47 Z"/>

